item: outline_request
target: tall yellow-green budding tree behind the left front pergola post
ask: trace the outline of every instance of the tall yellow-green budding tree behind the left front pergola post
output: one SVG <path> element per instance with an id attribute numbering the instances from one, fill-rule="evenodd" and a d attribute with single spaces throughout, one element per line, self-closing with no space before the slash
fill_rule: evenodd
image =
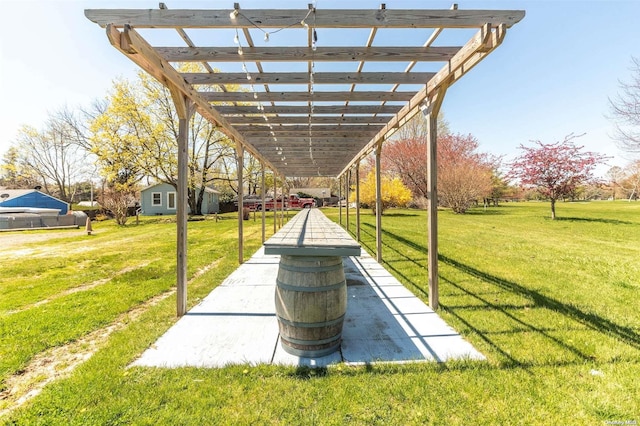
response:
<path id="1" fill-rule="evenodd" d="M 184 65 L 181 70 L 198 71 L 197 67 Z M 116 81 L 106 107 L 93 118 L 92 152 L 108 180 L 134 184 L 151 177 L 177 188 L 178 129 L 169 90 L 140 72 L 135 82 Z M 205 188 L 229 182 L 226 172 L 235 170 L 231 161 L 234 145 L 197 113 L 189 121 L 188 144 L 187 198 L 191 212 L 200 214 Z"/>

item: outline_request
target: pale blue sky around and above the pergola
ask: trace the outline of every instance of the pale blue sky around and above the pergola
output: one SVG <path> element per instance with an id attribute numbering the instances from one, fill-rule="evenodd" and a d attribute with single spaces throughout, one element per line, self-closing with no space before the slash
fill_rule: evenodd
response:
<path id="1" fill-rule="evenodd" d="M 169 8 L 231 8 L 233 1 L 165 1 Z M 306 8 L 307 0 L 270 1 Z M 265 2 L 241 1 L 243 8 Z M 380 1 L 317 0 L 318 8 L 377 8 Z M 451 2 L 390 0 L 387 8 L 449 8 Z M 22 124 L 40 128 L 47 112 L 89 105 L 136 66 L 84 17 L 85 8 L 157 8 L 157 1 L 0 0 L 0 155 Z M 630 159 L 610 138 L 607 97 L 629 80 L 640 57 L 640 1 L 459 1 L 459 9 L 523 9 L 525 18 L 496 51 L 452 86 L 443 112 L 454 132 L 471 133 L 481 150 L 508 160 L 530 140 L 554 142 L 586 133 L 587 149 Z M 322 33 L 319 34 L 319 44 Z M 378 39 L 377 39 L 378 40 Z M 384 40 L 380 39 L 381 43 Z M 606 168 L 601 168 L 604 173 Z"/>

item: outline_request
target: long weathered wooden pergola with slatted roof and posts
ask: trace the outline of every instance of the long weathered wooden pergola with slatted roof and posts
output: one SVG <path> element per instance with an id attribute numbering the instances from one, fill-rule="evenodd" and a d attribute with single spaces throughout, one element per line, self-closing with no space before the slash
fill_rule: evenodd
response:
<path id="1" fill-rule="evenodd" d="M 360 161 L 375 153 L 378 204 L 382 143 L 422 111 L 429 129 L 429 303 L 437 309 L 438 111 L 447 88 L 498 47 L 524 11 L 456 5 L 392 10 L 384 4 L 374 10 L 313 5 L 245 10 L 238 3 L 226 10 L 169 10 L 161 3 L 154 10 L 86 10 L 85 15 L 106 29 L 116 49 L 170 90 L 178 112 L 178 315 L 186 312 L 186 141 L 195 111 L 235 141 L 240 183 L 246 151 L 262 163 L 263 180 L 266 167 L 283 178 L 336 177 L 343 188 L 342 179 L 350 182 L 355 171 L 358 197 Z M 151 42 L 166 39 L 167 32 L 177 34 L 179 43 Z M 180 72 L 184 62 L 200 63 L 205 72 Z M 378 260 L 380 211 L 378 205 Z M 241 211 L 238 218 L 242 262 Z M 359 209 L 356 218 L 359 239 Z"/>

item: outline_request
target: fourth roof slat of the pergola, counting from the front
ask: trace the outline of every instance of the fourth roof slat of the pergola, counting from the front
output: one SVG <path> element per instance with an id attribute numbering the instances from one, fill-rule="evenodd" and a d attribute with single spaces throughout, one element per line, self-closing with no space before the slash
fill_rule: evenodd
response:
<path id="1" fill-rule="evenodd" d="M 413 92 L 198 92 L 209 102 L 379 102 L 408 101 Z M 255 110 L 254 110 L 255 111 Z M 314 108 L 315 113 L 315 108 Z"/>

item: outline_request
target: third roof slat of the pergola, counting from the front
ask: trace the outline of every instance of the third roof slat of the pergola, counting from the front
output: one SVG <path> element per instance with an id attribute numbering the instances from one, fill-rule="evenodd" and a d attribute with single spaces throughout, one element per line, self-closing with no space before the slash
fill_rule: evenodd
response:
<path id="1" fill-rule="evenodd" d="M 309 84 L 309 73 L 182 73 L 189 84 Z M 314 84 L 424 84 L 433 72 L 318 72 Z"/>

